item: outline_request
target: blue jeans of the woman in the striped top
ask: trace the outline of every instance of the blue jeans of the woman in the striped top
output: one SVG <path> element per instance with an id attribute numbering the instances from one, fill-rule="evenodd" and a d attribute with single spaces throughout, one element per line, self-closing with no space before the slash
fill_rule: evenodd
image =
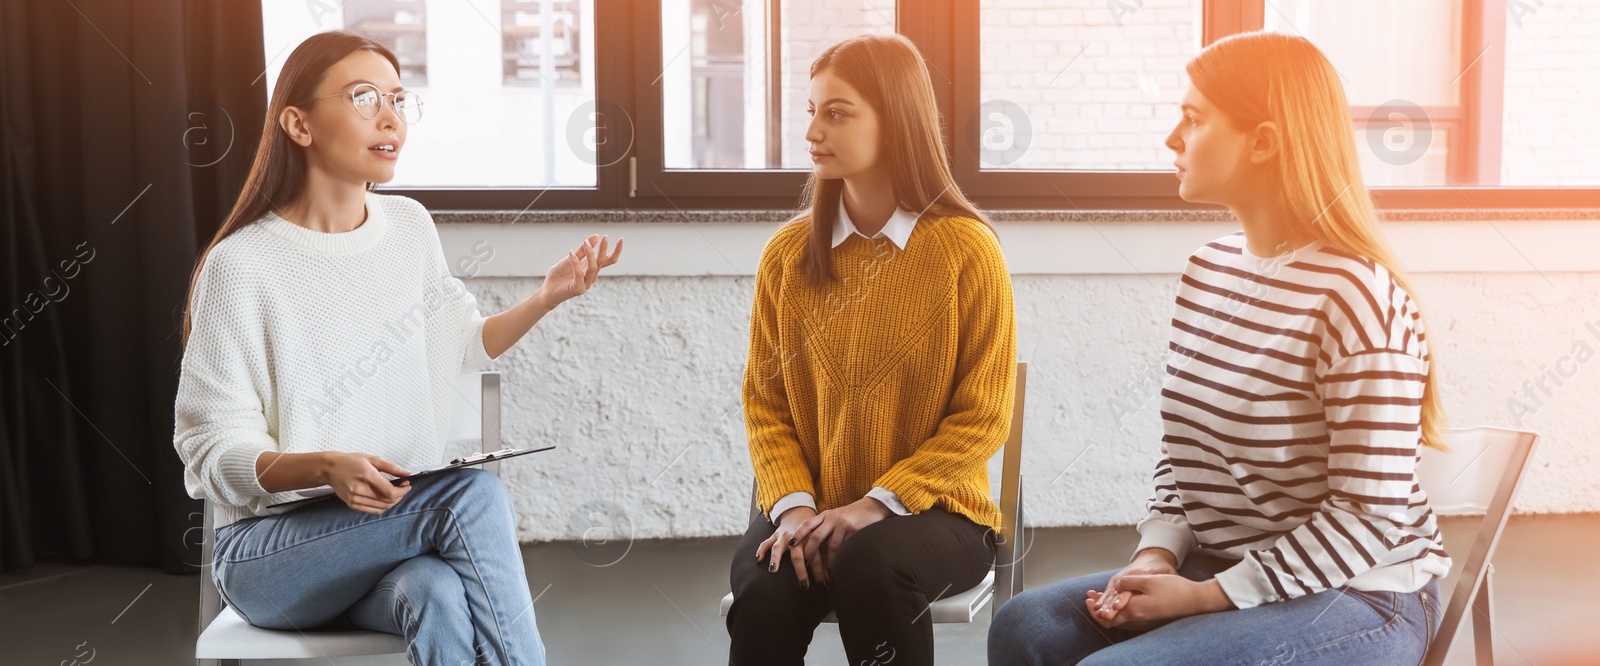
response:
<path id="1" fill-rule="evenodd" d="M 1178 573 L 1203 581 L 1234 560 L 1190 552 Z M 1438 581 L 1416 592 L 1330 589 L 1254 608 L 1194 615 L 1138 632 L 1088 618 L 1090 589 L 1118 570 L 1029 589 L 989 626 L 989 663 L 1021 664 L 1418 664 L 1438 631 Z"/>

